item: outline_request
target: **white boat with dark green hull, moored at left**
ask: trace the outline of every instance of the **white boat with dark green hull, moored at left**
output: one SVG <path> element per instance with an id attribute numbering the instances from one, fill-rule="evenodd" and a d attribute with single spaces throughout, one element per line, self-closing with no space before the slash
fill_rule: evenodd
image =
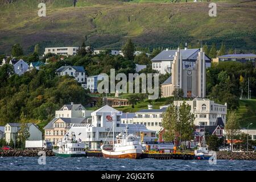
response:
<path id="1" fill-rule="evenodd" d="M 65 135 L 64 141 L 58 142 L 57 147 L 59 147 L 57 150 L 53 149 L 55 156 L 86 156 L 85 144 L 77 141 L 74 133 Z"/>

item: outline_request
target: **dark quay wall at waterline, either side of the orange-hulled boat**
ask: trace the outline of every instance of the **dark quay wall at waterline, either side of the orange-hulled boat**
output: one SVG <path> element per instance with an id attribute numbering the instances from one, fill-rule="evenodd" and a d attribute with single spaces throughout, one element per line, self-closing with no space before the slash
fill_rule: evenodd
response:
<path id="1" fill-rule="evenodd" d="M 102 152 L 101 151 L 86 151 L 86 156 L 88 157 L 96 157 L 101 158 Z M 195 158 L 193 154 L 172 154 L 172 153 L 150 153 L 144 152 L 142 154 L 142 159 L 159 159 L 159 160 L 168 160 L 168 159 L 182 159 L 182 160 L 192 160 Z"/>

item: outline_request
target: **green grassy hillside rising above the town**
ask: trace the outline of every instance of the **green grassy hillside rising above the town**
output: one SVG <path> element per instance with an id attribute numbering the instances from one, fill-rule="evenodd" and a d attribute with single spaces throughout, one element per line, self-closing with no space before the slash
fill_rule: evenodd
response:
<path id="1" fill-rule="evenodd" d="M 87 35 L 95 48 L 122 46 L 132 38 L 140 47 L 177 47 L 201 41 L 228 48 L 256 50 L 255 1 L 217 3 L 217 17 L 209 17 L 205 2 L 165 0 L 46 1 L 46 17 L 38 16 L 37 0 L 0 1 L 0 53 L 10 53 L 20 43 L 28 53 L 39 43 L 40 53 L 49 46 L 80 46 Z"/>

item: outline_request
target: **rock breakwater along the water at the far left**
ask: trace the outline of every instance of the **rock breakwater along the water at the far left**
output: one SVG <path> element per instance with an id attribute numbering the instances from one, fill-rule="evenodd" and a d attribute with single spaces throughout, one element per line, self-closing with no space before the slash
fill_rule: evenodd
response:
<path id="1" fill-rule="evenodd" d="M 42 153 L 38 155 L 39 151 L 46 152 L 46 156 L 54 156 L 51 150 L 0 150 L 0 156 L 3 157 L 13 157 L 13 156 L 26 156 L 26 157 L 36 157 L 42 156 Z"/>

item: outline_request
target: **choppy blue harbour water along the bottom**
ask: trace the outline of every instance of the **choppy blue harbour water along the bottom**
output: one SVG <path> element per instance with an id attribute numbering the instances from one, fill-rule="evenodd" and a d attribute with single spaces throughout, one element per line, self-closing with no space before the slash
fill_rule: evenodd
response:
<path id="1" fill-rule="evenodd" d="M 104 159 L 47 157 L 46 165 L 39 165 L 38 158 L 0 157 L 0 170 L 150 170 L 150 171 L 196 171 L 196 170 L 256 170 L 255 160 L 217 160 L 210 165 L 208 160 L 156 160 L 156 159 Z"/>

